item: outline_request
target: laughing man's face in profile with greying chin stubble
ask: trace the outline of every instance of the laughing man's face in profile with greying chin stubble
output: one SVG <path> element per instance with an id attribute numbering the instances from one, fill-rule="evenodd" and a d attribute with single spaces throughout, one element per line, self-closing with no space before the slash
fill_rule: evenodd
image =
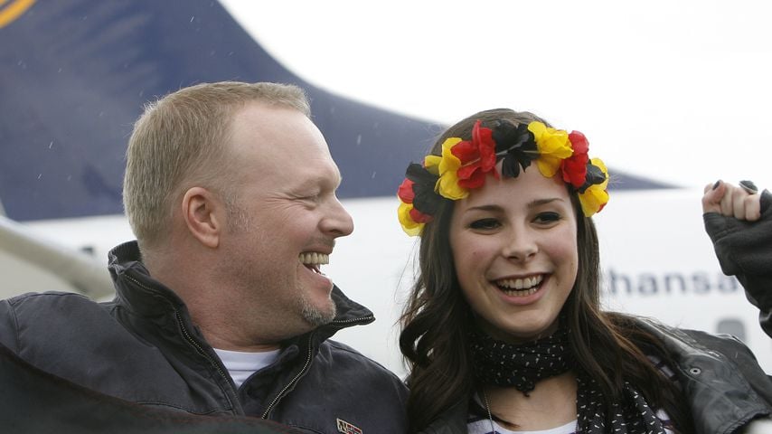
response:
<path id="1" fill-rule="evenodd" d="M 353 222 L 325 138 L 296 110 L 253 103 L 237 112 L 230 145 L 236 210 L 220 246 L 232 302 L 248 322 L 280 325 L 277 338 L 328 323 L 333 282 L 320 267 Z"/>

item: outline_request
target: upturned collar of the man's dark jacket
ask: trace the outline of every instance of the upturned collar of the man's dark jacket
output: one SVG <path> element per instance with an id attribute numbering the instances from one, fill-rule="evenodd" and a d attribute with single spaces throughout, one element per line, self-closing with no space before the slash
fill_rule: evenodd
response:
<path id="1" fill-rule="evenodd" d="M 108 259 L 118 304 L 142 316 L 187 310 L 182 298 L 177 296 L 172 288 L 150 276 L 142 263 L 137 241 L 118 245 L 110 250 Z M 337 314 L 331 323 L 315 329 L 316 338 L 324 340 L 338 330 L 353 325 L 370 324 L 375 320 L 370 309 L 346 297 L 340 288 L 333 288 L 332 297 Z"/>

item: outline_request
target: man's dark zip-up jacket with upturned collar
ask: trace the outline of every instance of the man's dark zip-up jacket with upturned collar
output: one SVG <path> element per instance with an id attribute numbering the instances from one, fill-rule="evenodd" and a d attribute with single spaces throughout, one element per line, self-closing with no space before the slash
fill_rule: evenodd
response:
<path id="1" fill-rule="evenodd" d="M 275 363 L 237 390 L 173 291 L 151 278 L 136 242 L 110 252 L 117 297 L 69 293 L 0 302 L 0 343 L 47 373 L 126 401 L 206 415 L 248 415 L 315 433 L 339 420 L 367 433 L 407 430 L 400 379 L 328 340 L 371 323 L 372 312 L 334 288 L 337 316 L 286 342 Z"/>

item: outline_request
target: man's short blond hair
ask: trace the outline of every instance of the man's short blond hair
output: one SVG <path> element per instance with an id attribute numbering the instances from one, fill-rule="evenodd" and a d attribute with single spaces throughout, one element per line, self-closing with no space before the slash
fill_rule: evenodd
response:
<path id="1" fill-rule="evenodd" d="M 178 90 L 148 104 L 128 140 L 123 203 L 140 246 L 163 241 L 173 206 L 190 186 L 234 199 L 227 144 L 237 110 L 249 102 L 297 109 L 310 118 L 306 93 L 293 85 L 222 81 Z"/>

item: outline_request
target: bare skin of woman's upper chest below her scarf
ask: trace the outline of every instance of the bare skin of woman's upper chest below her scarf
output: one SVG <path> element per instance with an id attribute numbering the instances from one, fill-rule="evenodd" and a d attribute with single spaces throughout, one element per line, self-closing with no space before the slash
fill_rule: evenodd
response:
<path id="1" fill-rule="evenodd" d="M 551 429 L 577 417 L 577 379 L 571 371 L 541 380 L 528 396 L 513 387 L 498 386 L 485 386 L 480 395 L 506 429 Z"/>

